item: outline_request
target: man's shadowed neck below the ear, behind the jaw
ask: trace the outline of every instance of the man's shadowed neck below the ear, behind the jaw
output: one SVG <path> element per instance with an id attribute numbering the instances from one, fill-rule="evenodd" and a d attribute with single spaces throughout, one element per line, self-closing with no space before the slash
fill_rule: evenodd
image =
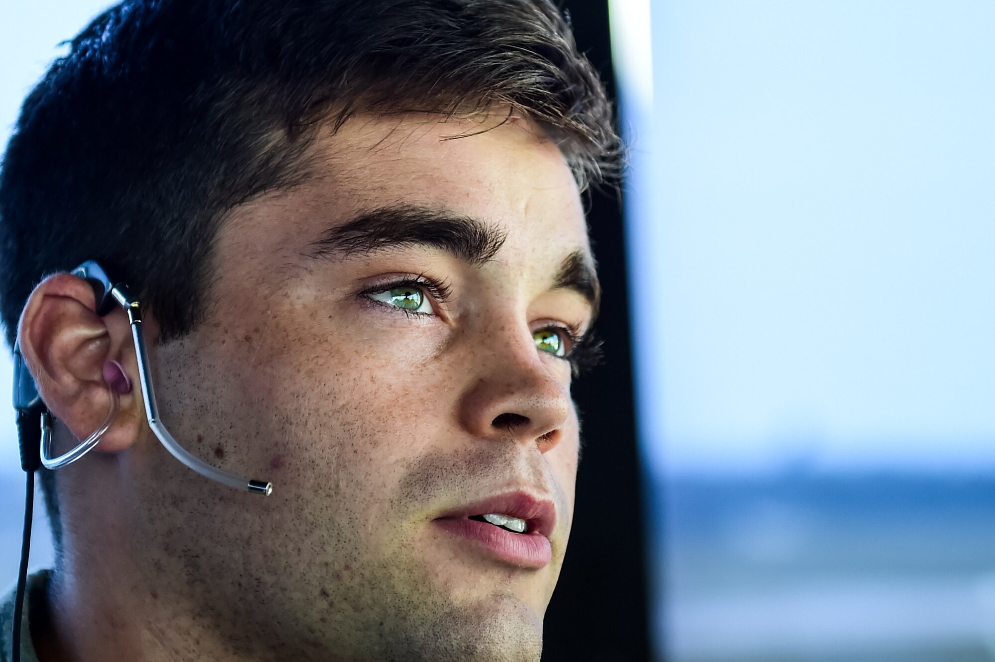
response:
<path id="1" fill-rule="evenodd" d="M 58 476 L 64 523 L 85 524 L 63 527 L 48 612 L 32 621 L 39 661 L 271 659 L 229 643 L 233 620 L 183 562 L 191 527 L 164 520 L 168 507 L 122 480 L 117 458 L 87 459 L 85 473 L 73 465 Z"/>

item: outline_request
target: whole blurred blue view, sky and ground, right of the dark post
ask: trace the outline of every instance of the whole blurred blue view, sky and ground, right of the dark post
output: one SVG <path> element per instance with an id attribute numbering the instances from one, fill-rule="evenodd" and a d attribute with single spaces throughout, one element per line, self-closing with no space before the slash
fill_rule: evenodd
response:
<path id="1" fill-rule="evenodd" d="M 612 32 L 661 656 L 995 659 L 995 5 Z"/>

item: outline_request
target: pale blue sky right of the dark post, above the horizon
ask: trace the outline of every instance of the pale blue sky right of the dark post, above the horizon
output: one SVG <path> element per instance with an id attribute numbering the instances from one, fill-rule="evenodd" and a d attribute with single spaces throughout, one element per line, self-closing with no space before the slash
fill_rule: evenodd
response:
<path id="1" fill-rule="evenodd" d="M 653 467 L 995 467 L 995 4 L 651 15 L 625 119 Z"/>

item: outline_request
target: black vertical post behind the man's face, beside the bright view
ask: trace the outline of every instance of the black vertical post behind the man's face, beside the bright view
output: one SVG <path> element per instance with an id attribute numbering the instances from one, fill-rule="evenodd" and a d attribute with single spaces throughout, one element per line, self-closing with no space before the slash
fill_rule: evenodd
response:
<path id="1" fill-rule="evenodd" d="M 615 98 L 607 0 L 563 0 L 578 47 Z M 546 612 L 542 659 L 649 660 L 643 474 L 636 436 L 625 225 L 620 194 L 591 193 L 588 222 L 604 294 L 605 363 L 573 388 L 583 451 L 573 530 Z"/>

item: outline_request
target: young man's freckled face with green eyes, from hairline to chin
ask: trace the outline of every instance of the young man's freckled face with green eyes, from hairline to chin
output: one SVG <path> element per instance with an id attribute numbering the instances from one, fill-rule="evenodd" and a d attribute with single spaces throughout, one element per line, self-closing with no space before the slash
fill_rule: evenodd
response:
<path id="1" fill-rule="evenodd" d="M 538 658 L 579 444 L 558 355 L 596 285 L 555 145 L 521 121 L 447 139 L 480 128 L 361 116 L 320 139 L 305 184 L 226 220 L 206 319 L 157 352 L 174 435 L 274 484 L 137 468 L 182 486 L 135 523 L 153 583 L 233 651 Z"/>

